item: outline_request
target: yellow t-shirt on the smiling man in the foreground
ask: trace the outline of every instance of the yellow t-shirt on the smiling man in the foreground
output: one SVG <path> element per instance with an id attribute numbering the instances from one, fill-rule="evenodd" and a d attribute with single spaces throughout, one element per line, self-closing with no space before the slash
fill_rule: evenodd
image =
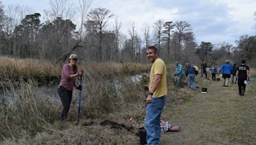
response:
<path id="1" fill-rule="evenodd" d="M 166 66 L 164 64 L 164 61 L 159 58 L 155 60 L 150 70 L 149 85 L 148 85 L 149 89 L 153 85 L 154 75 L 156 74 L 162 74 L 161 81 L 159 82 L 159 85 L 153 94 L 153 97 L 158 98 L 158 97 L 162 97 L 163 95 L 167 95 Z"/>

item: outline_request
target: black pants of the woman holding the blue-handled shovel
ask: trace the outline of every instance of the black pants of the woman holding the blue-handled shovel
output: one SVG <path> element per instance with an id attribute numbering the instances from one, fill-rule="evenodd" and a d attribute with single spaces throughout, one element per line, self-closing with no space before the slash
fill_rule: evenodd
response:
<path id="1" fill-rule="evenodd" d="M 60 96 L 63 109 L 61 111 L 61 119 L 65 120 L 67 118 L 67 114 L 70 108 L 71 100 L 72 100 L 72 90 L 67 90 L 63 86 L 60 86 L 57 90 L 58 95 Z"/>

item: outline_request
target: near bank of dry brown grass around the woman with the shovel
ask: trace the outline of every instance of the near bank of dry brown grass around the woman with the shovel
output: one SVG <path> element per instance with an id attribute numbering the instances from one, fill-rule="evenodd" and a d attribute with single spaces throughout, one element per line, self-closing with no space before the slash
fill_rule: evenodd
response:
<path id="1" fill-rule="evenodd" d="M 58 66 L 52 69 L 61 71 L 56 67 Z M 143 64 L 83 64 L 82 62 L 79 68 L 85 71 L 79 125 L 74 125 L 77 121 L 77 95 L 75 93 L 68 120 L 62 122 L 59 120 L 60 100 L 56 102 L 52 97 L 42 97 L 42 94 L 38 92 L 37 82 L 33 78 L 27 81 L 19 79 L 15 81 L 15 85 L 13 81 L 7 81 L 10 87 L 3 87 L 3 90 L 14 92 L 13 97 L 16 99 L 11 104 L 6 100 L 1 102 L 0 143 L 137 144 L 139 138 L 135 133 L 138 127 L 143 125 L 145 97 L 147 96 L 147 91 L 143 90 L 142 86 L 148 83 L 148 75 L 137 83 L 134 83 L 129 75 L 148 71 L 150 67 Z M 19 66 L 17 70 L 20 70 Z M 26 70 L 23 71 L 26 72 Z M 180 91 L 174 89 L 172 67 L 168 66 L 168 72 L 170 72 L 168 73 L 169 99 L 164 113 L 168 113 L 170 109 L 188 101 L 191 97 L 191 93 L 186 89 L 180 89 Z M 49 75 L 53 74 L 56 72 L 49 73 Z M 10 80 L 8 77 L 2 79 Z M 133 120 L 128 121 L 131 117 Z M 165 114 L 163 118 L 167 119 Z M 104 120 L 115 121 L 131 129 L 100 125 L 100 122 Z"/>

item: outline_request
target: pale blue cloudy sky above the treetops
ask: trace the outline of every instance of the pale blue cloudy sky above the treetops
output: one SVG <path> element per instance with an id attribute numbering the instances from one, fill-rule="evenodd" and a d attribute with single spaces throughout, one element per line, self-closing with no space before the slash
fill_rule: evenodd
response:
<path id="1" fill-rule="evenodd" d="M 51 10 L 49 0 L 0 1 L 5 7 L 19 4 L 42 15 Z M 76 6 L 78 0 L 68 1 Z M 142 28 L 157 20 L 188 22 L 198 45 L 205 41 L 235 46 L 240 36 L 256 35 L 255 0 L 93 0 L 89 9 L 93 8 L 107 8 L 122 22 L 124 34 L 134 25 L 141 38 Z"/>

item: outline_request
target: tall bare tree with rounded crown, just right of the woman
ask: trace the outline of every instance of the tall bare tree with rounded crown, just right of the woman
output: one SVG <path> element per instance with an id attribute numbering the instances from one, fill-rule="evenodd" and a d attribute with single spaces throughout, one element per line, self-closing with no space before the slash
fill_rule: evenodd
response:
<path id="1" fill-rule="evenodd" d="M 103 33 L 104 29 L 106 28 L 106 26 L 108 24 L 109 18 L 111 18 L 113 16 L 114 15 L 111 13 L 111 11 L 109 11 L 106 8 L 95 8 L 95 9 L 91 10 L 88 13 L 88 20 L 87 21 L 93 22 L 97 27 L 97 31 L 99 32 L 98 53 L 99 53 L 100 62 L 103 61 L 103 56 L 102 56 L 102 33 Z"/>

